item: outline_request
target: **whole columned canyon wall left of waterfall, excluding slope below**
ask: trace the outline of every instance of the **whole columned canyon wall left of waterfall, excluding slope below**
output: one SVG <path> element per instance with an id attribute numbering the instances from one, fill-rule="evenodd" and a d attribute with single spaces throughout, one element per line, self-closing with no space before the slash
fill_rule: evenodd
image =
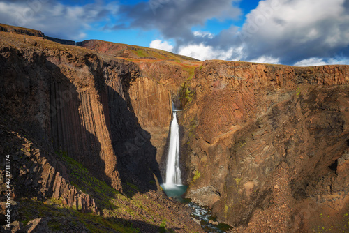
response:
<path id="1" fill-rule="evenodd" d="M 1 36 L 1 118 L 117 190 L 121 179 L 150 186 L 172 117 L 168 90 L 131 61 Z"/>

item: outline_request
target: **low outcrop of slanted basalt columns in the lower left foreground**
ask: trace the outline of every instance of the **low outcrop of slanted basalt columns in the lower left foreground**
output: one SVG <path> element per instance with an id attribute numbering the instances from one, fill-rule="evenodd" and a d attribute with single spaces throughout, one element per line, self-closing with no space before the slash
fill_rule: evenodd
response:
<path id="1" fill-rule="evenodd" d="M 7 157 L 12 162 L 12 182 L 15 184 L 11 192 L 12 197 L 34 196 L 39 199 L 54 197 L 66 206 L 85 213 L 98 211 L 94 199 L 77 190 L 67 180 L 69 174 L 64 164 L 57 159 L 57 155 L 43 147 L 38 147 L 20 133 L 9 131 L 6 126 L 0 125 L 0 130 L 1 142 L 3 142 L 0 152 L 4 154 L 9 148 L 13 150 L 13 153 L 9 153 L 10 157 Z M 0 176 L 0 180 L 5 181 L 5 174 Z"/>

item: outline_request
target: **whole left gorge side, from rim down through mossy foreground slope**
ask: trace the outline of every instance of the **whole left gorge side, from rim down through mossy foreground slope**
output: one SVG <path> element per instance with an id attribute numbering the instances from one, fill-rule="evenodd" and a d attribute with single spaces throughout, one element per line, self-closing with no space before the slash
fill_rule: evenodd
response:
<path id="1" fill-rule="evenodd" d="M 19 206 L 13 221 L 35 218 L 28 227 L 45 232 L 200 232 L 187 207 L 158 190 L 171 96 L 137 64 L 2 31 L 0 80 L 0 151 L 13 156 Z"/>

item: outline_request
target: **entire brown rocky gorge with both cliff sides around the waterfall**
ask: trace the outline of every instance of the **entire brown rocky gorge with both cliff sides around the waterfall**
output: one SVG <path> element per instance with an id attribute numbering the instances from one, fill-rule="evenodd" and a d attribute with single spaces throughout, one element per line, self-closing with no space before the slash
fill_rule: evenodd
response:
<path id="1" fill-rule="evenodd" d="M 348 232 L 349 66 L 78 45 L 1 25 L 0 220 L 10 155 L 13 232 L 204 232 L 163 183 L 230 232 Z"/>

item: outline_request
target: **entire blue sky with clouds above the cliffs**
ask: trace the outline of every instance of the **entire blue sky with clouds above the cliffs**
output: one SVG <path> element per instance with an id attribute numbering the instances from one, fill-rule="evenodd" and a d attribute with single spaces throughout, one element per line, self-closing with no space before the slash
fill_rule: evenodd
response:
<path id="1" fill-rule="evenodd" d="M 349 64 L 349 0 L 0 0 L 0 22 L 202 61 Z"/>

